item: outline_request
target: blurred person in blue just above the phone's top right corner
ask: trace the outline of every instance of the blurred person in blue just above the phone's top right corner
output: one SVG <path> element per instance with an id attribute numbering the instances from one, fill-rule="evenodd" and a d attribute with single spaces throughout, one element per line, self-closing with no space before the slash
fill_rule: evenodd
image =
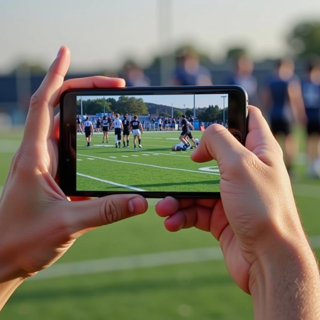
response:
<path id="1" fill-rule="evenodd" d="M 244 88 L 248 93 L 249 104 L 254 106 L 260 106 L 258 96 L 258 82 L 257 79 L 252 75 L 253 72 L 252 60 L 242 54 L 235 60 L 235 72 L 228 79 L 227 84 L 239 85 Z"/>

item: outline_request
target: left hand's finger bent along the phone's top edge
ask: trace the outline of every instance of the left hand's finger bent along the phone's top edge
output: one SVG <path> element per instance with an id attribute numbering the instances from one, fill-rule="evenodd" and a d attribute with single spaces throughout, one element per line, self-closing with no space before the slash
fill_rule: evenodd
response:
<path id="1" fill-rule="evenodd" d="M 110 78 L 105 76 L 92 76 L 66 80 L 61 87 L 55 105 L 59 103 L 61 94 L 69 89 L 92 89 L 92 88 L 120 88 L 125 86 L 122 78 Z"/>

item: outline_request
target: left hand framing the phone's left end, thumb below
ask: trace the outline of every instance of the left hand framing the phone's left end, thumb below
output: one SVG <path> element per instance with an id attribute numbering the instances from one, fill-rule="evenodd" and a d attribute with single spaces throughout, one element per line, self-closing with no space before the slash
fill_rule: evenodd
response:
<path id="1" fill-rule="evenodd" d="M 60 94 L 67 89 L 125 84 L 123 79 L 103 76 L 63 82 L 69 64 L 70 51 L 61 47 L 30 101 L 23 140 L 0 203 L 0 282 L 36 274 L 58 260 L 85 232 L 143 213 L 148 206 L 138 195 L 70 202 L 55 182 L 59 115 L 54 117 L 53 109 Z"/>

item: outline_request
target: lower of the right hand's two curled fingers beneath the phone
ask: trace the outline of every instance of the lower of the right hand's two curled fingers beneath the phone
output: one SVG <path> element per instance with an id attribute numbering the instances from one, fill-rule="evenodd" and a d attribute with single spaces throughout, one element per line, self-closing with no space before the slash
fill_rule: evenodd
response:
<path id="1" fill-rule="evenodd" d="M 193 205 L 179 210 L 164 221 L 164 226 L 168 231 L 178 231 L 196 227 L 203 231 L 210 231 L 210 219 L 212 208 Z"/>

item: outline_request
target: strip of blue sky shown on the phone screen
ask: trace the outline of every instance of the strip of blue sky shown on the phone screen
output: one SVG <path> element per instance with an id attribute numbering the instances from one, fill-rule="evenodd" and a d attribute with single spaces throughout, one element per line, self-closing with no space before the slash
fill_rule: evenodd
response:
<path id="1" fill-rule="evenodd" d="M 225 108 L 228 107 L 228 94 L 224 94 L 225 99 Z M 106 99 L 114 98 L 119 99 L 119 96 L 104 96 Z M 152 102 L 156 104 L 163 104 L 166 106 L 171 106 L 173 104 L 174 108 L 193 108 L 193 94 L 159 94 L 159 95 L 143 95 L 143 96 L 134 96 L 136 98 L 142 98 L 144 102 Z M 99 99 L 101 96 L 83 96 L 82 100 L 88 99 Z M 77 96 L 77 100 L 80 97 Z M 196 94 L 195 95 L 196 108 L 208 107 L 209 105 L 218 105 L 220 108 L 223 108 L 223 98 L 221 94 Z"/>

